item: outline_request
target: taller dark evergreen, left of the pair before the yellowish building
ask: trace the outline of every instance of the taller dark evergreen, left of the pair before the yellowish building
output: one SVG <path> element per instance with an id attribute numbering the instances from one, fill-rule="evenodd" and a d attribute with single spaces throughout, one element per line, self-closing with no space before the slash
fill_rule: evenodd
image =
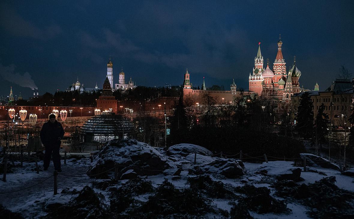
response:
<path id="1" fill-rule="evenodd" d="M 313 132 L 313 104 L 308 92 L 301 95 L 300 104 L 297 108 L 298 134 L 305 139 L 312 137 Z"/>

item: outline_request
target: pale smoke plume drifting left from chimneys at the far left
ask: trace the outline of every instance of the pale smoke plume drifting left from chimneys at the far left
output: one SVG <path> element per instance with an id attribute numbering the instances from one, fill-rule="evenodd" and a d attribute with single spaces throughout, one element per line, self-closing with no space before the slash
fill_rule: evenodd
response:
<path id="1" fill-rule="evenodd" d="M 38 89 L 31 75 L 26 71 L 23 75 L 15 73 L 15 65 L 4 66 L 0 63 L 0 75 L 6 80 L 21 87 L 29 87 L 32 90 Z"/>

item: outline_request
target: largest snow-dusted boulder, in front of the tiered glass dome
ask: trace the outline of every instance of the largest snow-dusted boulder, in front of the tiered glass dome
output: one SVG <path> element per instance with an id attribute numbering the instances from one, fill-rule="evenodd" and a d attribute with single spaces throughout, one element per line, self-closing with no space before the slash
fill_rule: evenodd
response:
<path id="1" fill-rule="evenodd" d="M 156 175 L 165 169 L 177 168 L 175 163 L 146 143 L 134 139 L 114 139 L 96 155 L 87 170 L 87 175 L 112 169 L 114 164 L 118 164 L 119 177 L 129 169 L 133 169 L 138 175 Z"/>

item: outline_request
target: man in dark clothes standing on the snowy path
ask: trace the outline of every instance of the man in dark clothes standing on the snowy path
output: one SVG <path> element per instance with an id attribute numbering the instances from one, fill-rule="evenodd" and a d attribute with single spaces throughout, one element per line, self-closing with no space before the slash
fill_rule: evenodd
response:
<path id="1" fill-rule="evenodd" d="M 45 154 L 43 159 L 44 170 L 47 170 L 50 163 L 50 157 L 53 156 L 54 169 L 62 172 L 59 149 L 61 139 L 64 136 L 64 129 L 60 122 L 55 119 L 55 115 L 49 116 L 49 121 L 43 124 L 40 137 L 42 144 L 45 146 Z"/>

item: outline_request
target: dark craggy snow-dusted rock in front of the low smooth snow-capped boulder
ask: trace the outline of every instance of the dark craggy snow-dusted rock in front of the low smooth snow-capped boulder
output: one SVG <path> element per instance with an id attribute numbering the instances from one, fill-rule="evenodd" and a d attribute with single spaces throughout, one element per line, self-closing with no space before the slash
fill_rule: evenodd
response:
<path id="1" fill-rule="evenodd" d="M 237 178 L 246 173 L 245 166 L 242 161 L 224 158 L 216 159 L 204 165 L 194 165 L 190 170 L 190 173 L 197 175 L 203 173 L 217 173 L 224 175 L 227 178 Z"/>

